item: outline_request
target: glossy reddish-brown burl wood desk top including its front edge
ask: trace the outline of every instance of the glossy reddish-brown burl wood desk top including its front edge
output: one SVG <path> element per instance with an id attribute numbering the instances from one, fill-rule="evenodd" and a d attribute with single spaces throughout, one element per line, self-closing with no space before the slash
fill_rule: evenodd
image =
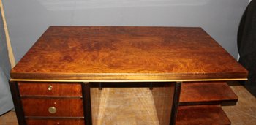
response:
<path id="1" fill-rule="evenodd" d="M 246 80 L 247 71 L 201 28 L 50 26 L 12 80 Z"/>

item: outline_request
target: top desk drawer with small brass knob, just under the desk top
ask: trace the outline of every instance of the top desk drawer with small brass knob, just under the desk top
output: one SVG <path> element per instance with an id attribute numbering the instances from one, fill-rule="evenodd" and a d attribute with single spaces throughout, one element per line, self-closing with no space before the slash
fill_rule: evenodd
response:
<path id="1" fill-rule="evenodd" d="M 20 96 L 80 96 L 80 83 L 19 82 Z"/>

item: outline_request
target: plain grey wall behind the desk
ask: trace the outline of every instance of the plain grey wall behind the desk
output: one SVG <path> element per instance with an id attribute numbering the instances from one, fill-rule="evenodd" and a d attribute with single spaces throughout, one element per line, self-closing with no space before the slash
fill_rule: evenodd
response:
<path id="1" fill-rule="evenodd" d="M 18 61 L 51 25 L 200 26 L 236 58 L 248 0 L 2 0 Z"/>

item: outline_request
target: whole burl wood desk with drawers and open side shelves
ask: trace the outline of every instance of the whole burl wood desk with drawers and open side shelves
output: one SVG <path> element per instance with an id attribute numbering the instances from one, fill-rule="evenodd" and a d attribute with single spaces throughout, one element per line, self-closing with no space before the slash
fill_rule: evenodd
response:
<path id="1" fill-rule="evenodd" d="M 159 119 L 166 115 L 159 115 L 155 104 L 157 117 L 151 120 L 158 120 L 154 124 L 169 124 L 170 120 L 170 124 L 175 124 L 176 120 L 176 124 L 186 124 L 189 121 L 183 118 L 190 117 L 192 112 L 189 109 L 204 108 L 209 113 L 221 114 L 217 120 L 226 117 L 219 105 L 236 102 L 237 97 L 225 81 L 246 80 L 246 77 L 246 69 L 200 28 L 50 26 L 12 69 L 10 86 L 20 124 L 102 124 L 99 122 L 102 119 L 94 118 L 94 115 L 91 118 L 91 110 L 94 113 L 96 108 L 91 102 L 98 102 L 99 107 L 102 103 L 91 97 L 98 95 L 94 94 L 98 91 L 95 87 L 103 87 L 103 90 L 105 87 L 157 90 L 161 86 L 170 87 L 159 89 L 161 94 L 173 91 L 169 94 L 174 95 L 173 102 L 168 102 L 165 97 L 160 105 L 165 107 L 167 101 L 169 107 L 172 106 L 172 110 L 169 109 L 171 115 L 161 112 L 169 115 L 169 119 L 165 118 L 161 121 L 166 122 L 161 123 Z M 206 89 L 202 89 L 203 86 Z M 215 94 L 214 91 L 222 91 L 222 88 L 225 95 Z M 113 89 L 107 90 L 111 93 Z M 180 90 L 181 101 L 178 102 Z M 200 93 L 200 90 L 211 92 Z M 141 95 L 146 91 L 141 89 L 136 93 Z M 190 93 L 186 94 L 186 91 Z M 196 91 L 197 97 L 194 96 L 193 100 L 189 95 Z M 129 90 L 125 90 L 127 92 Z M 140 118 L 137 120 L 141 121 Z M 228 119 L 226 121 L 228 124 Z"/>

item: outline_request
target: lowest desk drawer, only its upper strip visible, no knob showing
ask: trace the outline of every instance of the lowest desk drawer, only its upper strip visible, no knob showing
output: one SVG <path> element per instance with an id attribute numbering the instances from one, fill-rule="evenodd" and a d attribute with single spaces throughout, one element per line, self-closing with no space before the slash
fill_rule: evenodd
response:
<path id="1" fill-rule="evenodd" d="M 83 119 L 26 119 L 27 125 L 84 125 Z"/>

